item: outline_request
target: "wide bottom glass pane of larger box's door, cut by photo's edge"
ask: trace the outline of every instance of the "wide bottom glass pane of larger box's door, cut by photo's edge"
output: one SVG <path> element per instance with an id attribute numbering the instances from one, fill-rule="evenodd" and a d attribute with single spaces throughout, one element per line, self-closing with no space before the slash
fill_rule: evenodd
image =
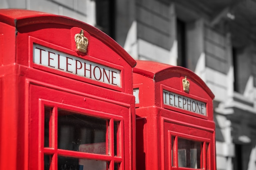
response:
<path id="1" fill-rule="evenodd" d="M 58 170 L 106 170 L 106 161 L 58 156 Z"/>

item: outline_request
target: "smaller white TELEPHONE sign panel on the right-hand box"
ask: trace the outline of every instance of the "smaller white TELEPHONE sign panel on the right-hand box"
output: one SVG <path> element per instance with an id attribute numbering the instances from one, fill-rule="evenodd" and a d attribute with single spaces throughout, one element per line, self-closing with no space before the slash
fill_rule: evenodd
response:
<path id="1" fill-rule="evenodd" d="M 171 107 L 177 107 L 183 110 L 198 113 L 206 116 L 206 103 L 163 90 L 163 101 L 164 105 Z"/>

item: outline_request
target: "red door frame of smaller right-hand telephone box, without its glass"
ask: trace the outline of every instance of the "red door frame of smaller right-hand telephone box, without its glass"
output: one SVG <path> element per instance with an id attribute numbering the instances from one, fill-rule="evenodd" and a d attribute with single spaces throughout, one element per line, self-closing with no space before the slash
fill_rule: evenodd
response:
<path id="1" fill-rule="evenodd" d="M 173 114 L 177 114 L 173 112 Z M 202 147 L 202 166 L 199 169 L 206 169 L 206 163 L 209 162 L 211 164 L 208 165 L 210 167 L 208 170 L 213 170 L 214 166 L 212 163 L 214 162 L 213 160 L 215 159 L 215 149 L 213 145 L 215 144 L 215 124 L 210 122 L 211 126 L 209 126 L 209 122 L 203 120 L 203 123 L 201 126 L 193 124 L 193 122 L 186 123 L 183 122 L 184 118 L 181 120 L 175 120 L 176 116 L 173 116 L 174 119 L 169 119 L 169 118 L 162 118 L 161 121 L 161 126 L 164 127 L 164 148 L 169 148 L 171 146 L 170 142 L 170 135 L 175 136 L 175 137 L 182 137 L 185 139 L 193 140 L 193 141 L 198 141 L 198 142 L 203 142 L 204 146 Z M 189 117 L 187 117 L 189 119 Z M 204 126 L 207 126 L 205 127 Z M 214 142 L 213 142 L 214 141 Z M 177 141 L 176 141 L 177 142 Z M 205 149 L 205 145 L 208 144 L 208 155 L 207 151 Z M 177 143 L 175 144 L 177 147 Z M 170 148 L 168 149 L 170 150 Z M 173 169 L 173 170 L 178 170 L 178 169 L 191 169 L 191 168 L 179 168 L 178 163 L 177 163 L 177 148 L 175 148 L 175 163 L 172 167 L 170 167 L 170 152 L 166 153 L 162 151 L 162 155 L 164 156 L 164 164 L 165 167 L 168 167 L 166 169 Z M 207 161 L 208 159 L 208 161 Z"/>

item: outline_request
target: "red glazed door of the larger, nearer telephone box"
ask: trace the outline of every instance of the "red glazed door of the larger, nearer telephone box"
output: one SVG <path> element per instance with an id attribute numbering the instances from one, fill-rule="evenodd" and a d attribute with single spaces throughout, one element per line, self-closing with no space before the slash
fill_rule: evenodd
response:
<path id="1" fill-rule="evenodd" d="M 128 108 L 40 85 L 30 85 L 29 91 L 29 147 L 38 148 L 30 150 L 29 157 L 39 155 L 30 161 L 30 169 L 106 170 L 123 166 L 121 144 L 126 137 L 122 132 Z"/>

